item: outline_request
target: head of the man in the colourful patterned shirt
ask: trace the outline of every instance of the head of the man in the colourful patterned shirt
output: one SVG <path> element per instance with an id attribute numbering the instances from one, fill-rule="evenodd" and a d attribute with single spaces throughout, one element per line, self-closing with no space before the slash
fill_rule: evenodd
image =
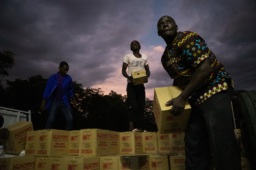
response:
<path id="1" fill-rule="evenodd" d="M 174 19 L 169 16 L 164 16 L 159 19 L 157 23 L 157 33 L 163 39 L 173 38 L 177 34 L 178 26 L 175 24 Z"/>

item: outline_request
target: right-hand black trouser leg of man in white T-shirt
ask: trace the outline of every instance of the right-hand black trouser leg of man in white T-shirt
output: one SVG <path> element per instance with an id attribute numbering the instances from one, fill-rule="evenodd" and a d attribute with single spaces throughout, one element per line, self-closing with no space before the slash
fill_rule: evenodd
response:
<path id="1" fill-rule="evenodd" d="M 145 110 L 145 100 L 146 100 L 145 87 L 143 84 L 136 85 L 135 87 L 136 87 L 136 101 L 137 101 L 137 108 L 138 108 L 136 121 L 137 121 L 138 129 L 145 130 L 144 128 L 144 110 Z"/>

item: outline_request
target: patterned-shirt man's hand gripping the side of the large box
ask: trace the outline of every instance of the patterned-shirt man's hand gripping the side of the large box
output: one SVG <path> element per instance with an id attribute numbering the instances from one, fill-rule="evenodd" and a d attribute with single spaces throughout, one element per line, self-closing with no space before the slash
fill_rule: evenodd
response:
<path id="1" fill-rule="evenodd" d="M 171 114 L 173 116 L 180 115 L 185 108 L 185 101 L 181 96 L 178 96 L 176 98 L 173 98 L 172 100 L 165 103 L 166 106 L 172 106 Z"/>

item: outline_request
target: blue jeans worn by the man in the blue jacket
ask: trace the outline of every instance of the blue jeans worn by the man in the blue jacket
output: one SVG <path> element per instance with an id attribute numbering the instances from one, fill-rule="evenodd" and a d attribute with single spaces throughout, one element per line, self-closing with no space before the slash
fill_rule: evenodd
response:
<path id="1" fill-rule="evenodd" d="M 73 122 L 71 106 L 68 105 L 67 107 L 65 107 L 63 101 L 55 101 L 55 100 L 52 101 L 52 103 L 51 103 L 50 113 L 49 113 L 49 116 L 48 116 L 48 120 L 46 122 L 45 129 L 51 129 L 52 128 L 52 124 L 54 123 L 54 121 L 56 119 L 56 115 L 57 115 L 59 110 L 62 112 L 62 114 L 64 115 L 64 117 L 66 119 L 66 128 L 65 128 L 65 130 L 71 130 L 72 122 Z"/>

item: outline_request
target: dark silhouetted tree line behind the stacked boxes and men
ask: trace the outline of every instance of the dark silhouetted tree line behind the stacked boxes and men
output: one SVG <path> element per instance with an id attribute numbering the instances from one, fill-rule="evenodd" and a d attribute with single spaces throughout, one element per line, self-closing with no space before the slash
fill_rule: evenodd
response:
<path id="1" fill-rule="evenodd" d="M 40 104 L 47 79 L 41 75 L 32 76 L 28 80 L 16 79 L 6 81 L 6 88 L 1 86 L 0 106 L 18 110 L 31 110 L 31 121 L 34 129 L 44 129 L 49 111 L 41 111 Z M 82 84 L 73 82 L 77 106 L 72 107 L 73 130 L 98 128 L 114 131 L 127 131 L 126 96 L 111 91 L 108 95 L 99 89 L 84 88 Z M 72 101 L 70 101 L 72 103 Z M 147 99 L 145 105 L 146 128 L 157 131 L 153 114 L 153 101 Z M 58 113 L 54 129 L 65 129 L 65 119 Z"/>

